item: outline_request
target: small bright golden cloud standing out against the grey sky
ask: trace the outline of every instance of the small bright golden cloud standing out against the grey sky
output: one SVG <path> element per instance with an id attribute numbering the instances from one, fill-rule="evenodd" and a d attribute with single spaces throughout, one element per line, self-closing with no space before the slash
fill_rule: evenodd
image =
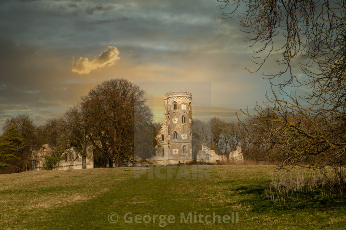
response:
<path id="1" fill-rule="evenodd" d="M 79 74 L 90 73 L 90 71 L 103 68 L 105 66 L 112 66 L 117 60 L 119 51 L 114 46 L 109 46 L 105 51 L 96 56 L 92 61 L 89 61 L 88 58 L 80 57 L 78 60 L 72 60 L 72 72 Z"/>

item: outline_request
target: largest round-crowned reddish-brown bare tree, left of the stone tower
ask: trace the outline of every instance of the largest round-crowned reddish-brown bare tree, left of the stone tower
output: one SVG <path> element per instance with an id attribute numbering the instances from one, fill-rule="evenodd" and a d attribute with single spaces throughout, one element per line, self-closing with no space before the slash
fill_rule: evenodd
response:
<path id="1" fill-rule="evenodd" d="M 110 167 L 113 161 L 119 167 L 124 165 L 124 160 L 134 161 L 135 128 L 152 122 L 145 94 L 125 79 L 112 79 L 102 82 L 82 98 L 92 124 L 93 143 Z"/>

